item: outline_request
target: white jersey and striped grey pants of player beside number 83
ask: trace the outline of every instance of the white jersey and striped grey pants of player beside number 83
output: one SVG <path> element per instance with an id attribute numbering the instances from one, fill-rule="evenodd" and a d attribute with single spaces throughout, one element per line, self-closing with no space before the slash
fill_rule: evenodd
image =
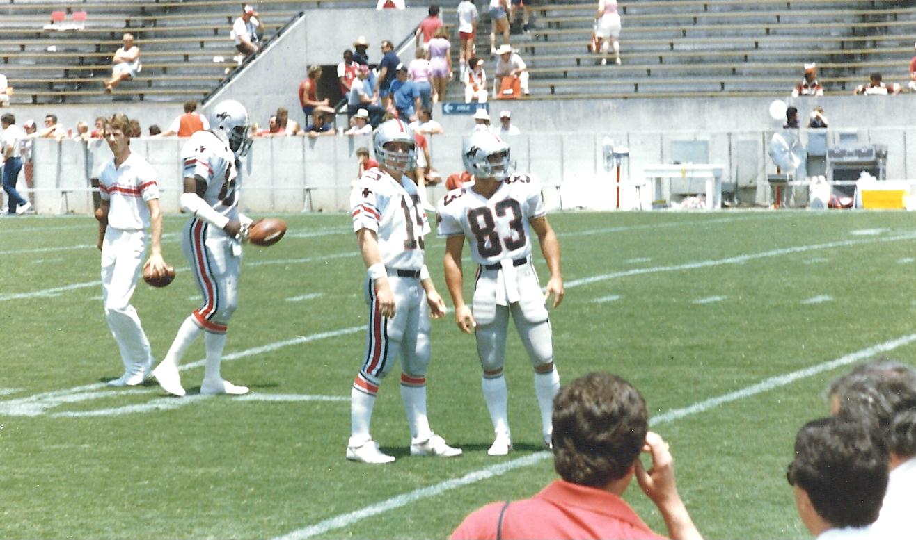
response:
<path id="1" fill-rule="evenodd" d="M 420 210 L 420 196 L 413 181 L 404 176 L 398 182 L 379 168 L 359 178 L 350 195 L 354 232 L 376 232 L 378 249 L 395 297 L 395 316 L 382 317 L 376 302 L 376 285 L 366 278 L 365 301 L 369 306 L 369 329 L 365 340 L 365 362 L 354 380 L 354 388 L 376 394 L 378 384 L 398 355 L 402 371 L 426 374 L 430 363 L 430 317 L 426 293 L 420 285 L 423 266 L 423 236 L 430 232 L 426 214 Z M 425 380 L 401 383 L 425 383 Z"/>

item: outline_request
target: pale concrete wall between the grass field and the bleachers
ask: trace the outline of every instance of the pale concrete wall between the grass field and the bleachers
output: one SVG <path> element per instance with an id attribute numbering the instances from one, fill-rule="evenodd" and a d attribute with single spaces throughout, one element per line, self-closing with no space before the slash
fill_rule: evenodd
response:
<path id="1" fill-rule="evenodd" d="M 772 131 L 634 131 L 581 132 L 577 134 L 540 133 L 517 135 L 509 139 L 512 159 L 519 170 L 540 176 L 548 206 L 583 207 L 595 210 L 615 206 L 612 172 L 605 171 L 602 141 L 613 136 L 618 145 L 628 146 L 630 159 L 624 162 L 624 183 L 641 182 L 643 169 L 649 164 L 671 163 L 671 147 L 685 141 L 707 141 L 710 163 L 725 167 L 725 198 L 741 188 L 743 201 L 766 204 L 769 193 L 766 176 L 775 166 L 766 151 Z M 802 141 L 807 133 L 802 130 Z M 828 130 L 833 141 L 839 130 Z M 913 128 L 875 127 L 857 132 L 861 143 L 889 145 L 888 178 L 916 180 L 916 130 Z M 442 177 L 463 169 L 461 135 L 431 137 L 433 165 Z M 162 205 L 167 212 L 179 211 L 180 140 L 139 139 L 131 143 L 135 152 L 146 156 L 159 173 Z M 356 175 L 354 151 L 371 147 L 364 137 L 268 137 L 257 138 L 242 164 L 241 204 L 245 211 L 302 211 L 309 208 L 306 187 L 311 188 L 314 211 L 348 210 L 349 192 Z M 77 141 L 36 140 L 34 150 L 36 209 L 40 213 L 57 213 L 63 207 L 61 191 L 70 190 L 70 211 L 89 212 L 92 197 L 89 178 L 111 154 L 104 141 L 84 144 Z M 736 185 L 737 182 L 737 185 Z M 25 188 L 20 180 L 19 188 Z M 667 188 L 666 188 L 667 189 Z M 703 183 L 687 179 L 671 182 L 672 193 L 699 193 Z M 442 197 L 443 189 L 431 189 L 430 200 Z M 649 189 L 640 192 L 625 188 L 622 207 L 648 207 L 652 202 Z"/>

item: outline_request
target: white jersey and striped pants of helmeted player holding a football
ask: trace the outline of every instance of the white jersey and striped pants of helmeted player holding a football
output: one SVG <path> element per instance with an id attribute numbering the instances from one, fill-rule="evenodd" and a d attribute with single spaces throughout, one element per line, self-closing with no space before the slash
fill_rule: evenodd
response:
<path id="1" fill-rule="evenodd" d="M 181 147 L 182 178 L 207 184 L 203 200 L 230 220 L 238 217 L 237 164 L 229 145 L 210 131 L 199 131 Z M 182 248 L 197 277 L 203 304 L 191 314 L 205 330 L 225 333 L 237 305 L 242 244 L 199 217 L 184 227 Z"/>

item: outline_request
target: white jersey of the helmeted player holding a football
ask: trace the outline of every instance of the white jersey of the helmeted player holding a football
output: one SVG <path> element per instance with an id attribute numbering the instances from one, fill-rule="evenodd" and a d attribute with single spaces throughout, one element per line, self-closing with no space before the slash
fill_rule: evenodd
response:
<path id="1" fill-rule="evenodd" d="M 238 165 L 235 154 L 212 131 L 199 131 L 181 147 L 181 178 L 200 177 L 207 183 L 203 200 L 230 220 L 238 216 Z"/>

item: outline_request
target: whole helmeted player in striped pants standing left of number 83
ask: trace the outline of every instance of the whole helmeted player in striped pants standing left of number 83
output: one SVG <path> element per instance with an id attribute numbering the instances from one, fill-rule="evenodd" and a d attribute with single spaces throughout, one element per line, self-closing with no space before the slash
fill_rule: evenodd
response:
<path id="1" fill-rule="evenodd" d="M 430 232 L 417 186 L 405 175 L 416 163 L 413 132 L 388 120 L 373 135 L 377 168 L 363 173 L 350 195 L 353 228 L 367 268 L 363 290 L 369 306 L 365 360 L 350 393 L 350 440 L 346 459 L 394 461 L 369 435 L 382 378 L 401 360 L 401 399 L 410 427 L 411 456 L 461 455 L 430 429 L 426 416 L 426 370 L 430 364 L 430 316 L 445 304 L 423 264 L 423 236 Z"/>

